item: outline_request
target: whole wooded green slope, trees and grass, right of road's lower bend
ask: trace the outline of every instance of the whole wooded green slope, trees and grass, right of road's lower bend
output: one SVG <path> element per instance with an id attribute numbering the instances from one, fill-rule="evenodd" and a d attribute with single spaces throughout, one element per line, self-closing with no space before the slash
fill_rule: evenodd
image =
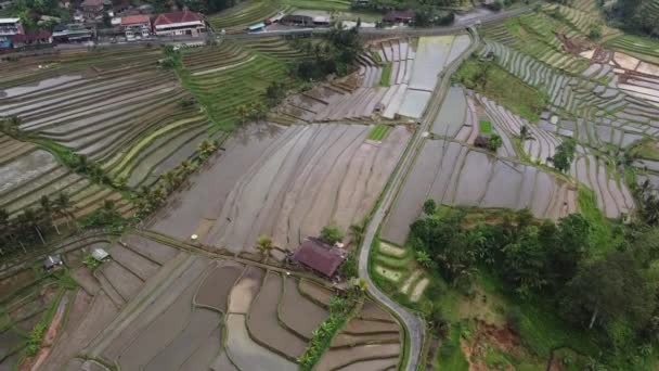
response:
<path id="1" fill-rule="evenodd" d="M 527 210 L 468 214 L 442 207 L 412 225 L 408 244 L 432 260 L 427 267 L 434 280 L 416 308 L 435 327 L 450 327 L 439 364 L 462 363 L 464 356 L 451 344 L 458 323 L 470 319 L 507 325 L 519 336 L 522 356 L 512 357 L 495 342 L 482 345 L 487 351 L 479 359 L 492 368 L 504 360 L 516 368 L 542 364 L 557 348 L 613 369 L 651 364 L 639 349 L 654 346 L 644 329 L 659 311 L 654 278 L 659 254 L 650 242 L 657 229 L 646 223 L 626 227 L 633 231 L 625 233 L 587 195 L 580 190 L 583 216 L 557 223 L 535 220 Z M 480 331 L 481 322 L 468 323 Z"/>

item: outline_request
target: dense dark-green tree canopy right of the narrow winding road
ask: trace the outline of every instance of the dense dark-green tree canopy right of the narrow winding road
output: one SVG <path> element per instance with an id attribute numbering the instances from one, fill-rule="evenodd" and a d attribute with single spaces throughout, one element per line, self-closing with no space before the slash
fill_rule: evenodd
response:
<path id="1" fill-rule="evenodd" d="M 425 214 L 432 210 L 427 206 Z M 556 223 L 528 210 L 499 223 L 474 222 L 462 209 L 441 214 L 417 219 L 410 244 L 419 264 L 449 283 L 466 286 L 487 269 L 522 298 L 550 298 L 566 321 L 600 330 L 617 349 L 657 340 L 659 229 L 636 228 L 603 252 L 591 244 L 593 228 L 580 214 Z"/>

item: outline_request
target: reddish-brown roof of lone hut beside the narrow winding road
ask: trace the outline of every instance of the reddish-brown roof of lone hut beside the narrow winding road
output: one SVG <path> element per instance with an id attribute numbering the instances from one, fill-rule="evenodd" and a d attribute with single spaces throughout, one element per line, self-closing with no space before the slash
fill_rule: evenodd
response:
<path id="1" fill-rule="evenodd" d="M 309 238 L 295 251 L 293 259 L 325 277 L 333 277 L 346 255 L 319 239 Z"/>

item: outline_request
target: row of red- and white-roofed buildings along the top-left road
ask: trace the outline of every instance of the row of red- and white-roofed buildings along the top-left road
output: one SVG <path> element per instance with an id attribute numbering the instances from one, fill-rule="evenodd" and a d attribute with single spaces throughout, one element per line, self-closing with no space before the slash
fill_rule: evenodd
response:
<path id="1" fill-rule="evenodd" d="M 105 24 L 107 17 L 109 25 Z M 52 31 L 26 31 L 21 18 L 0 18 L 0 51 L 91 41 L 101 36 L 131 41 L 151 37 L 198 37 L 206 31 L 206 21 L 199 13 L 183 10 L 151 16 L 133 11 L 117 15 L 105 8 L 104 0 L 85 0 L 74 21 L 76 22 L 59 24 Z"/>

